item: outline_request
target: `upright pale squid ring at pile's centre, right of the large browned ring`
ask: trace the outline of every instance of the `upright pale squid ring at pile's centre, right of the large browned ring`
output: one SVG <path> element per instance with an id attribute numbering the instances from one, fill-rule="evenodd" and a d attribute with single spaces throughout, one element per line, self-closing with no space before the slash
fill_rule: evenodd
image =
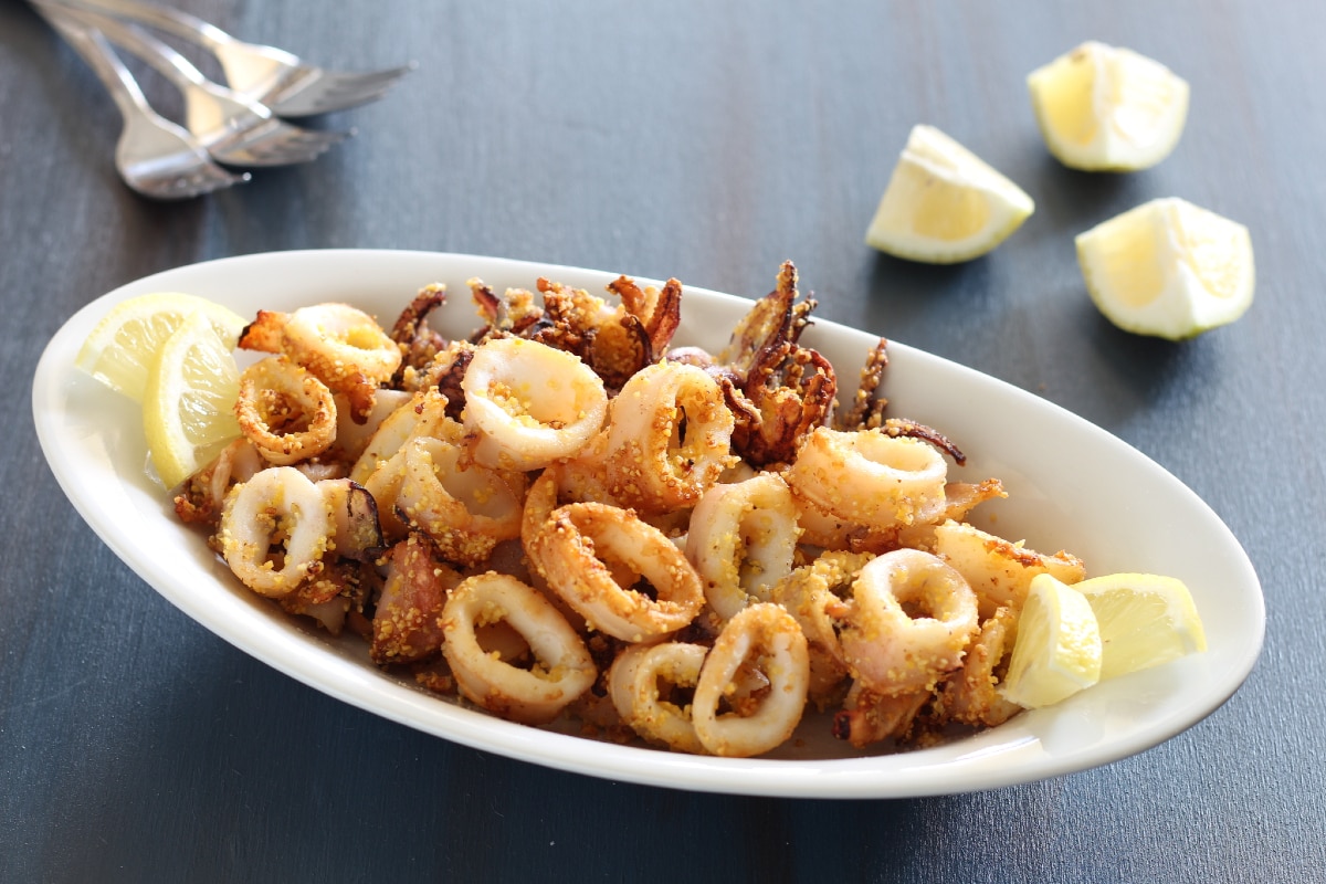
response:
<path id="1" fill-rule="evenodd" d="M 792 573 L 797 510 L 777 473 L 704 492 L 691 514 L 686 557 L 704 584 L 709 607 L 728 620 L 752 600 L 768 602 Z"/>

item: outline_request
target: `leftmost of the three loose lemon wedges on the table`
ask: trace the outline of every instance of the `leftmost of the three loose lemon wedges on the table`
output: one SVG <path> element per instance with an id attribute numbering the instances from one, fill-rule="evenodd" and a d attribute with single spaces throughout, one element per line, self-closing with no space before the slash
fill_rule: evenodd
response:
<path id="1" fill-rule="evenodd" d="M 1032 197 L 934 126 L 907 138 L 866 244 L 927 264 L 985 254 L 1036 209 Z"/>

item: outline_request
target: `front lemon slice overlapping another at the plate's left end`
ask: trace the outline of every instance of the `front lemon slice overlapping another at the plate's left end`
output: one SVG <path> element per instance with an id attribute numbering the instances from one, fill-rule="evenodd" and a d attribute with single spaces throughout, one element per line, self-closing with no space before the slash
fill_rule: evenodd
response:
<path id="1" fill-rule="evenodd" d="M 233 347 L 206 313 L 190 314 L 156 353 L 143 392 L 143 432 L 166 488 L 198 472 L 240 435 Z"/>

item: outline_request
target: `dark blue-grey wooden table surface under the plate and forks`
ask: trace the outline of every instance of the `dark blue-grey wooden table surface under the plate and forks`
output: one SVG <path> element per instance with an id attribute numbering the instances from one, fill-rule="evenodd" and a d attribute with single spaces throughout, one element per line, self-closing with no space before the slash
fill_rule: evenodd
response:
<path id="1" fill-rule="evenodd" d="M 321 125 L 314 164 L 182 204 L 115 176 L 118 117 L 24 3 L 0 4 L 0 880 L 1326 879 L 1326 13 L 1307 3 L 552 4 L 182 0 L 345 68 L 408 60 Z M 1028 72 L 1086 38 L 1192 83 L 1175 154 L 1086 175 L 1045 151 Z M 160 86 L 154 94 L 164 95 Z M 866 223 L 914 123 L 1037 201 L 993 254 L 882 257 Z M 1238 323 L 1115 330 L 1071 236 L 1154 196 L 1252 229 Z M 460 747 L 256 663 L 158 596 L 42 463 L 28 390 L 80 306 L 232 254 L 408 248 L 745 296 L 797 261 L 819 315 L 1036 392 L 1193 488 L 1248 550 L 1265 649 L 1223 708 L 1140 755 L 916 801 L 691 794 Z"/>

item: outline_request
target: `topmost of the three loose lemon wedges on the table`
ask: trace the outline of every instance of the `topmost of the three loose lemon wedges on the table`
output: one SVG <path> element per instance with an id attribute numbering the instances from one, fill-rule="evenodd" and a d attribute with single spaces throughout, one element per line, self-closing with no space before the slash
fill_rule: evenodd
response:
<path id="1" fill-rule="evenodd" d="M 1070 168 L 1128 172 L 1174 151 L 1188 83 L 1131 49 L 1089 41 L 1026 78 L 1050 152 Z"/>

